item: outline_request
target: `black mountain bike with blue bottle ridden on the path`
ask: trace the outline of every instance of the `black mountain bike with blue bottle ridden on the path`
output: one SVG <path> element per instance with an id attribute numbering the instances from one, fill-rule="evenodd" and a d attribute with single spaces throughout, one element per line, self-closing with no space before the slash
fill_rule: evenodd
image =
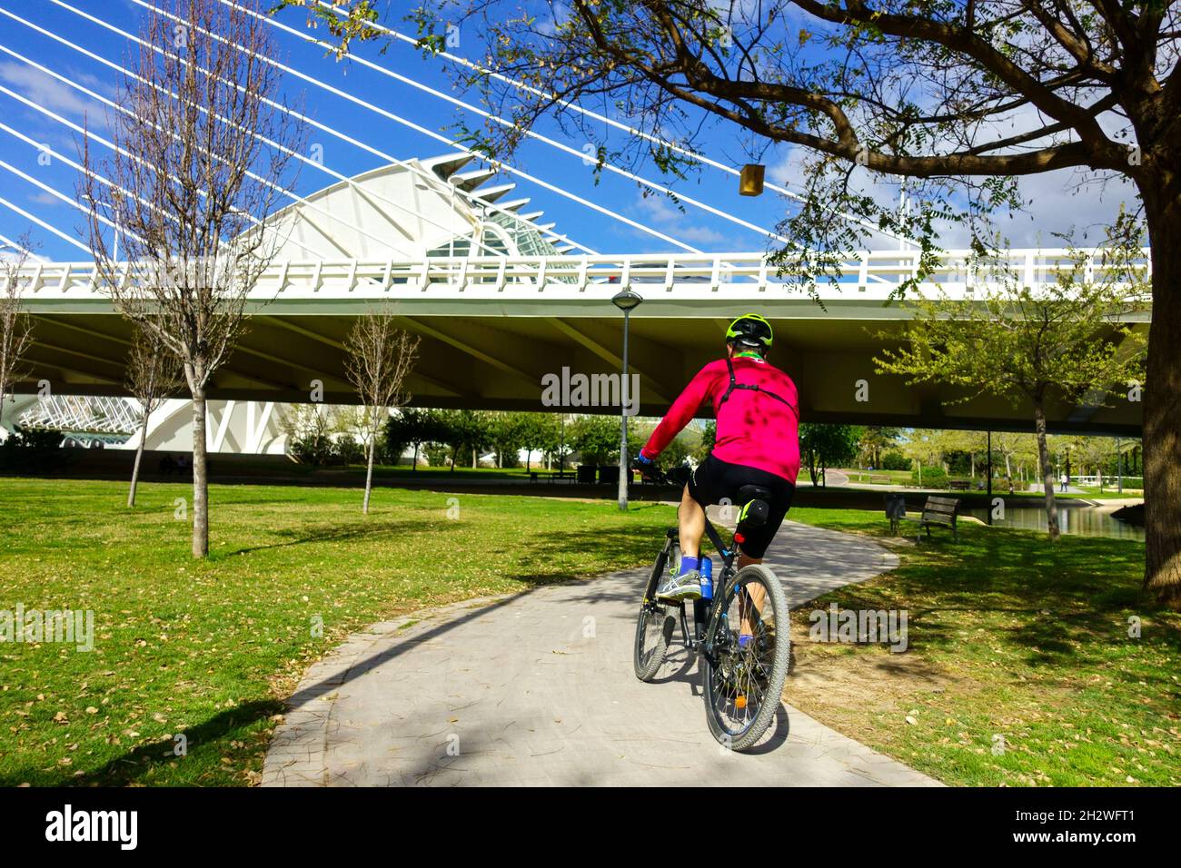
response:
<path id="1" fill-rule="evenodd" d="M 677 477 L 657 474 L 654 481 L 676 483 Z M 705 520 L 705 533 L 722 559 L 722 568 L 715 572 L 712 599 L 692 601 L 692 626 L 684 602 L 658 600 L 655 595 L 666 573 L 676 575 L 680 562 L 678 530 L 668 528 L 635 622 L 634 665 L 641 681 L 655 678 L 680 624 L 685 647 L 700 659 L 710 732 L 735 751 L 752 746 L 775 719 L 791 653 L 788 600 L 779 580 L 762 564 L 742 569 L 733 566 L 744 534 L 766 522 L 770 496 L 758 485 L 739 490 L 735 504 L 738 521 L 729 542 Z"/>

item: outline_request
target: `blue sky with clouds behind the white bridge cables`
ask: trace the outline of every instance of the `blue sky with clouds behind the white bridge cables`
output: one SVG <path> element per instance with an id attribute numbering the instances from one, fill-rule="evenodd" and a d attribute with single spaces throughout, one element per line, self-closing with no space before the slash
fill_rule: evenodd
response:
<path id="1" fill-rule="evenodd" d="M 68 2 L 91 15 L 133 33 L 138 32 L 141 15 L 144 14 L 144 9 L 130 0 L 68 0 Z M 399 4 L 393 4 L 393 7 L 398 6 Z M 67 9 L 48 2 L 48 0 L 37 0 L 35 2 L 0 0 L 0 8 L 85 46 L 117 64 L 131 51 L 126 40 L 104 31 L 98 25 L 85 21 Z M 305 15 L 299 11 L 288 11 L 280 15 L 280 20 L 304 30 Z M 389 24 L 400 25 L 400 22 L 392 20 Z M 475 34 L 468 38 L 466 34 L 461 33 L 459 37 L 461 45 L 454 50 L 455 53 L 478 57 L 481 52 Z M 294 35 L 276 32 L 276 39 L 285 54 L 282 59 L 295 70 L 400 115 L 422 126 L 443 132 L 449 137 L 456 135 L 455 126 L 461 116 L 457 113 L 458 110 L 443 100 L 416 91 L 409 85 L 394 81 L 357 63 L 337 63 L 333 58 L 326 57 L 321 48 L 301 43 Z M 45 64 L 56 72 L 106 96 L 113 96 L 119 80 L 116 72 L 100 63 L 56 44 L 50 37 L 35 33 L 2 15 L 0 15 L 0 45 Z M 394 43 L 385 54 L 378 54 L 377 47 L 373 45 L 358 46 L 355 51 L 403 76 L 443 91 L 450 92 L 452 90 L 451 79 L 445 74 L 444 61 L 426 59 L 411 46 Z M 102 105 L 4 53 L 0 53 L 0 85 L 77 124 L 81 124 L 84 118 L 87 118 L 91 129 L 96 131 L 105 125 L 107 110 Z M 294 77 L 287 77 L 285 87 L 287 99 L 293 104 L 304 105 L 309 116 L 396 157 L 428 157 L 452 150 L 423 133 L 353 105 Z M 474 94 L 471 102 L 476 102 Z M 590 107 L 601 109 L 601 106 Z M 478 123 L 478 118 L 474 115 L 468 115 L 466 119 L 472 125 Z M 0 92 L 0 120 L 38 143 L 48 144 L 64 156 L 77 158 L 77 133 L 33 109 L 21 105 L 2 92 Z M 575 150 L 581 150 L 585 144 L 585 142 L 567 138 L 554 124 L 543 124 L 539 129 L 554 138 L 566 141 Z M 706 143 L 709 154 L 720 162 L 733 165 L 740 165 L 745 162 L 739 144 L 740 139 L 733 130 L 715 126 L 706 131 L 703 141 Z M 324 162 L 327 165 L 345 175 L 355 175 L 383 163 L 379 157 L 318 130 L 309 130 L 307 135 L 307 148 L 313 146 L 322 149 Z M 50 159 L 50 164 L 45 165 L 44 155 L 35 146 L 4 130 L 0 130 L 0 159 L 60 192 L 73 196 L 77 181 L 74 169 L 60 159 Z M 592 170 L 585 165 L 583 161 L 539 143 L 527 143 L 515 162 L 521 169 L 544 181 L 599 202 L 668 235 L 677 236 L 703 250 L 763 250 L 770 243 L 765 236 L 758 233 L 735 226 L 692 207 L 686 205 L 683 213 L 667 198 L 659 196 L 645 198 L 635 183 L 625 178 L 608 174 L 601 176 L 595 183 Z M 770 178 L 788 187 L 794 185 L 792 175 L 796 163 L 790 149 L 772 149 L 765 155 L 764 162 L 768 164 Z M 647 170 L 642 174 L 653 180 L 660 180 L 654 170 Z M 295 189 L 306 195 L 328 183 L 332 183 L 328 175 L 305 168 L 300 172 Z M 517 181 L 517 191 L 509 198 L 531 197 L 529 207 L 524 210 L 544 209 L 542 222 L 556 221 L 557 231 L 566 233 L 599 252 L 634 253 L 678 249 L 667 242 L 528 182 Z M 715 208 L 766 228 L 774 228 L 776 222 L 792 207 L 774 192 L 765 192 L 758 198 L 740 197 L 737 192 L 737 180 L 713 169 L 705 169 L 700 175 L 677 182 L 673 187 L 684 195 L 703 200 Z M 1127 190 L 1120 188 L 1109 189 L 1102 196 L 1097 188 L 1074 191 L 1071 190 L 1070 176 L 1063 172 L 1030 180 L 1025 189 L 1026 195 L 1036 198 L 1038 203 L 1036 210 L 1016 215 L 1003 227 L 1017 246 L 1033 246 L 1038 243 L 1039 237 L 1052 244 L 1055 242 L 1050 236 L 1051 233 L 1101 222 L 1115 213 L 1121 198 L 1127 197 Z M 2 167 L 0 167 L 0 196 L 56 226 L 67 235 L 78 236 L 78 229 L 81 227 L 79 211 L 54 200 L 34 184 L 4 170 Z M 39 253 L 41 255 L 57 260 L 85 259 L 81 250 L 41 228 L 32 226 L 27 218 L 0 204 L 0 234 L 12 239 L 26 229 L 31 229 L 33 237 L 40 243 Z M 945 243 L 954 247 L 958 239 L 954 236 L 948 236 Z M 885 241 L 877 246 L 893 247 Z"/>

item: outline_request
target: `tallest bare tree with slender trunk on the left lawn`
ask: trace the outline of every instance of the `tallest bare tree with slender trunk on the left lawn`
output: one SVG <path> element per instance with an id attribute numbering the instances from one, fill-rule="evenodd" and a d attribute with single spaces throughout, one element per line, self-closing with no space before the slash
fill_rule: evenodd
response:
<path id="1" fill-rule="evenodd" d="M 280 78 L 267 25 L 216 0 L 169 0 L 148 14 L 110 119 L 116 149 L 85 143 L 79 198 L 90 247 L 116 308 L 151 331 L 193 396 L 193 556 L 209 553 L 205 399 L 240 338 L 247 300 L 274 259 L 267 220 L 289 182 L 299 130 L 274 109 Z M 250 6 L 243 4 L 242 6 Z M 118 233 L 125 261 L 111 250 Z"/>

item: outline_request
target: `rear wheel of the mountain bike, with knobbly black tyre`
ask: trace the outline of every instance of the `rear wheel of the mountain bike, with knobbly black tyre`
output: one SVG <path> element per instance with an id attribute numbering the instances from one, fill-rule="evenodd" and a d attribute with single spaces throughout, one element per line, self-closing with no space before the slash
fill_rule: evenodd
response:
<path id="1" fill-rule="evenodd" d="M 702 693 L 710 732 L 740 751 L 763 737 L 782 704 L 790 622 L 783 586 L 762 564 L 740 569 L 725 594 L 706 634 Z M 751 637 L 746 647 L 739 645 L 744 633 Z"/>

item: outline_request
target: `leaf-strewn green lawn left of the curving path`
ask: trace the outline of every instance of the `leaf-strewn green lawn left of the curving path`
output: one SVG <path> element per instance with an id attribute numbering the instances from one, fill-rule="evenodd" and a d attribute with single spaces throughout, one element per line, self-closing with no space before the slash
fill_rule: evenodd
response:
<path id="1" fill-rule="evenodd" d="M 392 489 L 364 517 L 358 490 L 214 485 L 195 562 L 174 516 L 190 494 L 144 485 L 129 510 L 122 483 L 0 478 L 0 609 L 92 609 L 96 635 L 92 652 L 0 645 L 0 785 L 250 783 L 281 698 L 351 631 L 639 564 L 673 521 Z"/>

